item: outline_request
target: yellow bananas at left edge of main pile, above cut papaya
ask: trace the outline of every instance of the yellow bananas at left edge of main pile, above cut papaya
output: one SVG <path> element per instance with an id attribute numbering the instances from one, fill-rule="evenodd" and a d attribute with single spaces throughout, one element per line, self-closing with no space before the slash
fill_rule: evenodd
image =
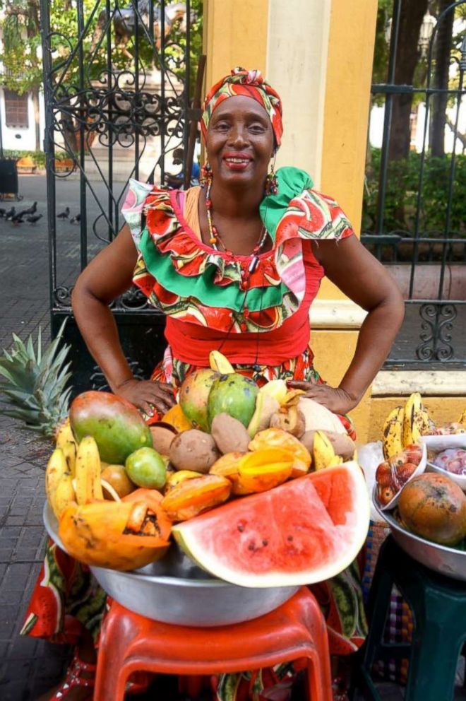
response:
<path id="1" fill-rule="evenodd" d="M 103 500 L 100 456 L 95 440 L 87 436 L 76 450 L 73 441 L 61 441 L 49 458 L 45 492 L 57 519 L 71 502 L 78 505 Z"/>

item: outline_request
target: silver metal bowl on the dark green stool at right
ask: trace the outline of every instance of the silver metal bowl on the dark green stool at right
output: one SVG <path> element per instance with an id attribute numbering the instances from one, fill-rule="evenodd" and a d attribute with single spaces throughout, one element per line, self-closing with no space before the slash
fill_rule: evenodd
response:
<path id="1" fill-rule="evenodd" d="M 415 536 L 410 531 L 405 531 L 395 519 L 393 512 L 382 511 L 377 503 L 375 490 L 373 500 L 381 519 L 388 523 L 393 538 L 400 548 L 405 550 L 405 553 L 417 562 L 421 562 L 422 565 L 429 567 L 429 570 L 466 582 L 466 551 L 441 546 Z"/>

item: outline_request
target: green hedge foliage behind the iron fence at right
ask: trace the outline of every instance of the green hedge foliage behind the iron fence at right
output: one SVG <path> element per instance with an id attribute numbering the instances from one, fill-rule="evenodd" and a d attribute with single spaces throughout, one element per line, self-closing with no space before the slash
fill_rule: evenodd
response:
<path id="1" fill-rule="evenodd" d="M 363 201 L 362 230 L 367 233 L 376 230 L 380 163 L 381 150 L 372 148 L 370 165 L 366 169 Z M 407 159 L 388 163 L 386 198 L 383 208 L 384 233 L 396 230 L 414 232 L 420 167 L 421 155 L 419 153 L 410 153 Z M 443 234 L 445 230 L 450 173 L 451 154 L 445 155 L 443 158 L 426 157 L 419 208 L 419 232 L 422 236 Z M 450 236 L 466 237 L 465 192 L 466 155 L 457 154 L 448 232 Z"/>

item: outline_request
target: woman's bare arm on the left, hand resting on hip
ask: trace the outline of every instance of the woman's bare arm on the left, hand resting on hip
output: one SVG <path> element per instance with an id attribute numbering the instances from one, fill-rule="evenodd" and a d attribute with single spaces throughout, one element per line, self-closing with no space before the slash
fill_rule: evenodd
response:
<path id="1" fill-rule="evenodd" d="M 112 391 L 145 413 L 165 413 L 174 398 L 169 385 L 133 377 L 119 341 L 117 324 L 109 303 L 131 287 L 137 259 L 127 225 L 116 239 L 90 261 L 76 281 L 73 312 L 86 346 L 101 367 Z"/>

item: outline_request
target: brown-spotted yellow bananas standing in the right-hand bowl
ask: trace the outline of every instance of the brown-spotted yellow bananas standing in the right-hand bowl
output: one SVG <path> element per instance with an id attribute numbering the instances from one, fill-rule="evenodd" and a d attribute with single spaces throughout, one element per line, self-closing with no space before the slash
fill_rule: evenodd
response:
<path id="1" fill-rule="evenodd" d="M 422 404 L 419 392 L 413 392 L 405 406 L 397 406 L 388 414 L 383 424 L 383 457 L 390 460 L 408 445 L 419 444 L 421 436 L 429 433 L 429 412 Z"/>

